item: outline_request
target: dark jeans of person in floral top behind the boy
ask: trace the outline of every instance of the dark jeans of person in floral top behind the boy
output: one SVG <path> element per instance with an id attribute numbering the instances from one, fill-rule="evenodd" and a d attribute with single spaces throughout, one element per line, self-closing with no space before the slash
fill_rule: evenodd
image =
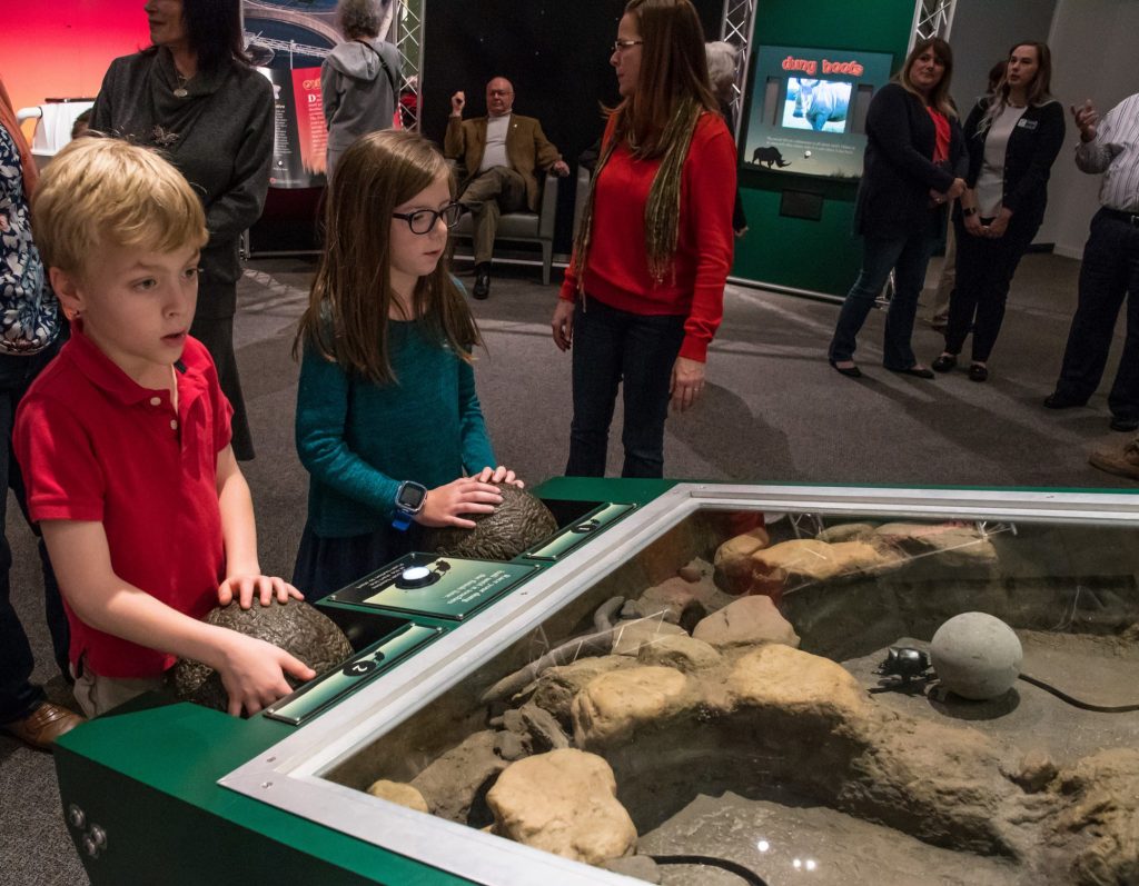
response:
<path id="1" fill-rule="evenodd" d="M 24 503 L 24 482 L 19 466 L 11 453 L 11 429 L 16 418 L 16 407 L 27 386 L 55 356 L 58 348 L 59 342 L 33 356 L 0 354 L 0 473 L 2 473 L 0 490 L 3 490 L 6 499 L 9 489 L 16 494 L 16 501 L 19 502 L 25 518 L 27 510 Z M 44 699 L 43 690 L 31 683 L 35 663 L 27 634 L 24 633 L 24 626 L 11 605 L 9 581 L 11 548 L 8 545 L 6 534 L 6 516 L 7 508 L 0 507 L 0 723 L 22 720 Z M 51 633 L 56 664 L 66 675 L 67 617 L 42 539 L 39 540 L 39 549 L 43 568 L 44 615 Z"/>

